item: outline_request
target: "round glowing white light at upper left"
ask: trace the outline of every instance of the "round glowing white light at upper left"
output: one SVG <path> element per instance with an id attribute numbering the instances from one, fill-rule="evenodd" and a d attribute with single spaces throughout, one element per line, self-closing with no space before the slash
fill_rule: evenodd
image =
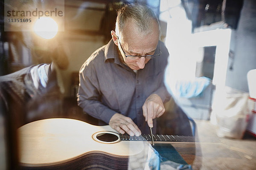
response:
<path id="1" fill-rule="evenodd" d="M 58 32 L 58 24 L 50 17 L 41 17 L 35 21 L 34 31 L 40 37 L 51 39 Z"/>

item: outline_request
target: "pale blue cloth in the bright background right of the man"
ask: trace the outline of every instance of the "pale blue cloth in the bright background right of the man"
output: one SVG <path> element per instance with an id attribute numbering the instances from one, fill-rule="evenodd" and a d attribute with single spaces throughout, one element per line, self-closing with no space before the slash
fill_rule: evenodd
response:
<path id="1" fill-rule="evenodd" d="M 211 79 L 207 77 L 198 77 L 194 81 L 176 82 L 177 96 L 185 98 L 200 97 L 210 82 Z"/>

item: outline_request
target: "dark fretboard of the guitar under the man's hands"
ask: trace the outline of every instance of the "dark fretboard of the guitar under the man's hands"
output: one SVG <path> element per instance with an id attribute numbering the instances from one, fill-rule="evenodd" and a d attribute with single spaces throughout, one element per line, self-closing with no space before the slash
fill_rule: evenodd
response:
<path id="1" fill-rule="evenodd" d="M 152 141 L 149 134 L 141 136 L 129 136 L 127 133 L 119 134 L 121 141 Z M 193 136 L 177 136 L 177 135 L 153 135 L 154 142 L 195 142 Z"/>

